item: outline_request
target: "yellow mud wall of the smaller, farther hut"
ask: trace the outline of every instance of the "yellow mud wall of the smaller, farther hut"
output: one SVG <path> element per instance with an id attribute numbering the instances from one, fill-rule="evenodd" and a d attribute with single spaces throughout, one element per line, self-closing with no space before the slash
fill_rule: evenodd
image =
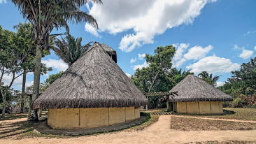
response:
<path id="1" fill-rule="evenodd" d="M 222 113 L 222 101 L 192 101 L 176 103 L 177 113 L 214 114 Z"/>

